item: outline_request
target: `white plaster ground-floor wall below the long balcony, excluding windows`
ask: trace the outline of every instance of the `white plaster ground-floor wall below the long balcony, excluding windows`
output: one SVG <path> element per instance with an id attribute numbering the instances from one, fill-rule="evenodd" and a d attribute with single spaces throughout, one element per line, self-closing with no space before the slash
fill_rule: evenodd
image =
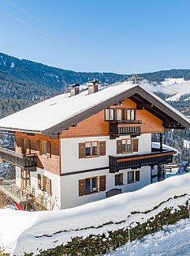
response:
<path id="1" fill-rule="evenodd" d="M 66 175 L 61 177 L 61 209 L 72 208 L 78 205 L 83 205 L 91 201 L 98 201 L 106 198 L 106 192 L 114 188 L 121 189 L 122 193 L 139 190 L 143 186 L 151 183 L 151 168 L 149 166 L 142 167 L 140 170 L 140 181 L 128 184 L 128 171 L 132 169 L 122 170 L 124 185 L 115 186 L 115 174 L 109 170 L 90 171 L 77 175 Z M 106 191 L 79 196 L 79 179 L 106 175 Z"/>

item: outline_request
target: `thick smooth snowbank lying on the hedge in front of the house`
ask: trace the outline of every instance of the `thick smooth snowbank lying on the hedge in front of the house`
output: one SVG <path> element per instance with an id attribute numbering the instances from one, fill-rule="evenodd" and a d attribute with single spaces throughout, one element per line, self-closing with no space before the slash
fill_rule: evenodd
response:
<path id="1" fill-rule="evenodd" d="M 85 238 L 126 228 L 127 216 L 130 226 L 136 227 L 137 222 L 150 220 L 166 207 L 178 209 L 178 205 L 185 205 L 189 183 L 190 174 L 175 176 L 141 190 L 60 211 L 29 213 L 1 209 L 0 247 L 16 255 L 23 255 L 23 251 L 37 254 L 39 250 L 66 244 L 75 236 Z"/>

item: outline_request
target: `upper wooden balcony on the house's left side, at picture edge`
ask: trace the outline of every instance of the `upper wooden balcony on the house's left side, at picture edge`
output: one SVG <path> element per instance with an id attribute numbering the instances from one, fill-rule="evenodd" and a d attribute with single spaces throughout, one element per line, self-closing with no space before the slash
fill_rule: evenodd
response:
<path id="1" fill-rule="evenodd" d="M 20 154 L 11 149 L 0 147 L 0 157 L 9 163 L 24 168 L 28 171 L 36 171 L 36 154 Z"/>

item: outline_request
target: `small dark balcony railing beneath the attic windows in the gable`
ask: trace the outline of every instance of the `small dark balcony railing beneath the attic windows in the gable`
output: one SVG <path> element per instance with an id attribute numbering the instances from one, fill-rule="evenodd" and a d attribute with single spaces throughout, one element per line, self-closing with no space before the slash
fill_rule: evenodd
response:
<path id="1" fill-rule="evenodd" d="M 141 126 L 126 126 L 118 122 L 110 122 L 111 135 L 140 135 Z"/>

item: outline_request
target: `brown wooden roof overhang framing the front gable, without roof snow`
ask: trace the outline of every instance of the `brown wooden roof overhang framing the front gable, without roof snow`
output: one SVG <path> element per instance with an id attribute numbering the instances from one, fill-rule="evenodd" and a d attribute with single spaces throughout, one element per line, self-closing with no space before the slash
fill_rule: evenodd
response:
<path id="1" fill-rule="evenodd" d="M 151 114 L 157 116 L 158 119 L 162 120 L 163 126 L 167 129 L 190 128 L 190 122 L 184 117 L 184 115 L 181 115 L 179 111 L 170 107 L 169 104 L 166 104 L 153 93 L 147 92 L 145 89 L 140 87 L 140 85 L 136 85 L 125 92 L 121 92 L 117 96 L 110 98 L 109 100 L 103 101 L 95 107 L 91 107 L 86 111 L 65 120 L 64 122 L 60 122 L 47 130 L 43 130 L 42 134 L 50 137 L 56 136 L 56 134 L 61 134 L 62 130 L 68 130 L 70 126 L 76 126 L 78 122 L 88 119 L 91 115 L 95 115 L 99 111 L 113 106 L 125 98 L 129 98 L 134 101 L 137 104 L 137 109 L 146 109 Z"/>

